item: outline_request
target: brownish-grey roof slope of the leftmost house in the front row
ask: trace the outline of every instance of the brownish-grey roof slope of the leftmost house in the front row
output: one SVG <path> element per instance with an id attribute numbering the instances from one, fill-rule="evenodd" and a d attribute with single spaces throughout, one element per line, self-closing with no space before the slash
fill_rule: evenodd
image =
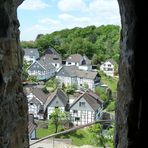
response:
<path id="1" fill-rule="evenodd" d="M 46 102 L 48 96 L 50 95 L 49 93 L 45 94 L 41 88 L 33 88 L 32 94 L 36 96 L 41 102 L 43 102 L 43 104 Z"/>

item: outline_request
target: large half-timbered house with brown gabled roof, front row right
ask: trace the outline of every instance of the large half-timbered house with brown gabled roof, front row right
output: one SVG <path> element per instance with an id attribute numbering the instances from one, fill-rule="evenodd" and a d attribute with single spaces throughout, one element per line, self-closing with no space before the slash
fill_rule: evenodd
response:
<path id="1" fill-rule="evenodd" d="M 74 125 L 84 125 L 101 118 L 103 101 L 92 91 L 84 92 L 70 106 L 71 121 Z"/>

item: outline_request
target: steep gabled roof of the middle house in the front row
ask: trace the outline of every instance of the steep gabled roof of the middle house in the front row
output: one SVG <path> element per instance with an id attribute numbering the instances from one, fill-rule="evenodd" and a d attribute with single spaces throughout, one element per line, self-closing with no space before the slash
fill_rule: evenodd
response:
<path id="1" fill-rule="evenodd" d="M 68 103 L 68 97 L 67 95 L 60 89 L 56 89 L 47 99 L 45 106 L 44 106 L 44 110 L 46 110 L 47 106 L 50 105 L 50 103 L 56 98 L 58 97 L 61 102 L 63 103 L 64 106 L 67 105 Z"/>

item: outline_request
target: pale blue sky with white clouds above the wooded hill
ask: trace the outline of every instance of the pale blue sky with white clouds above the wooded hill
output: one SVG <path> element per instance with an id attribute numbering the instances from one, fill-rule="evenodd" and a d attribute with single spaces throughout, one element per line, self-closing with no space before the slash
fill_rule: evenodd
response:
<path id="1" fill-rule="evenodd" d="M 17 12 L 21 41 L 66 28 L 120 25 L 117 0 L 25 0 Z"/>

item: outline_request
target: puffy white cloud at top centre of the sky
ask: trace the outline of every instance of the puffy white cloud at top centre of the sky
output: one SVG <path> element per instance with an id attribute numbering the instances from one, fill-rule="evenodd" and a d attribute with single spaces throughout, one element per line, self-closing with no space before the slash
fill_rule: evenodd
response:
<path id="1" fill-rule="evenodd" d="M 80 10 L 83 11 L 86 9 L 86 4 L 83 0 L 60 0 L 58 2 L 58 7 L 62 11 L 73 11 Z"/>

